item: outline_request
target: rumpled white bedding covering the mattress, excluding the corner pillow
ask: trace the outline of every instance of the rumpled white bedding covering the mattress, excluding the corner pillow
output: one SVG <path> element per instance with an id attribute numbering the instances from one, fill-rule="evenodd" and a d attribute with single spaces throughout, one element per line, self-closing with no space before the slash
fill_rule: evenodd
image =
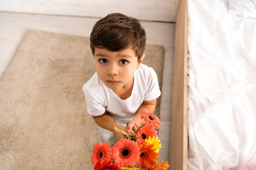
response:
<path id="1" fill-rule="evenodd" d="M 256 20 L 188 0 L 189 170 L 256 170 Z"/>

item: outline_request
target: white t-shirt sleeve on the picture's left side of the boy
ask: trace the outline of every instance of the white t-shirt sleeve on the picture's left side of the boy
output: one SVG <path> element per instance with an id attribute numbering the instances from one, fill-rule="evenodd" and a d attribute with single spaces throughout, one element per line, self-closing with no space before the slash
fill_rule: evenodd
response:
<path id="1" fill-rule="evenodd" d="M 85 86 L 83 87 L 84 97 L 87 104 L 87 112 L 92 116 L 100 116 L 105 113 L 106 108 L 100 99 L 87 89 Z"/>

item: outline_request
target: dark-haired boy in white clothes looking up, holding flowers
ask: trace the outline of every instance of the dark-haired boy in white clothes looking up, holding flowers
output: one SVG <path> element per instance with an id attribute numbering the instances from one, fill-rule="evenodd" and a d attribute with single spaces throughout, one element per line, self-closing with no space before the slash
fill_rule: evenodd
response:
<path id="1" fill-rule="evenodd" d="M 155 71 L 143 65 L 146 34 L 139 20 L 124 14 L 108 14 L 93 27 L 90 47 L 96 73 L 84 84 L 87 111 L 99 125 L 100 142 L 124 139 L 118 127 L 134 133 L 140 110 L 154 112 L 161 92 Z M 128 126 L 126 127 L 128 123 Z"/>

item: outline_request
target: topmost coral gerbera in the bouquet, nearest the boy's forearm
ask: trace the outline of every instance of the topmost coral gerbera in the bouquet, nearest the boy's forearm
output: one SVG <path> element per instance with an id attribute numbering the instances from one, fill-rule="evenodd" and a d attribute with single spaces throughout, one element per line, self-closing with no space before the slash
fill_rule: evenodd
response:
<path id="1" fill-rule="evenodd" d="M 146 124 L 151 128 L 159 129 L 161 126 L 161 122 L 157 116 L 148 111 L 147 108 L 141 109 L 142 113 L 140 113 L 140 119 L 144 119 Z"/>

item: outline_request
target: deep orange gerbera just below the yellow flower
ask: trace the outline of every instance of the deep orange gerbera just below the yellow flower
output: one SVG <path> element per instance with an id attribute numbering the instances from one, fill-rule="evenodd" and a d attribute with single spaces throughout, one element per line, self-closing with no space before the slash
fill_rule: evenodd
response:
<path id="1" fill-rule="evenodd" d="M 150 165 L 154 164 L 157 161 L 159 153 L 156 153 L 156 149 L 152 149 L 152 147 L 154 147 L 154 144 L 140 144 L 140 169 L 147 169 L 150 167 Z"/>

